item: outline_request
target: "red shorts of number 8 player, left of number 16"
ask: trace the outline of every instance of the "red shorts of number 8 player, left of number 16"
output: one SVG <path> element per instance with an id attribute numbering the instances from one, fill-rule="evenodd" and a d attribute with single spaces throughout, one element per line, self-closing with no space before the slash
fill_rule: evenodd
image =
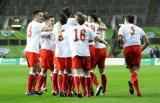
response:
<path id="1" fill-rule="evenodd" d="M 55 57 L 55 68 L 57 70 L 64 70 L 64 69 L 70 69 L 72 66 L 72 61 L 71 58 L 60 58 L 60 57 Z"/>

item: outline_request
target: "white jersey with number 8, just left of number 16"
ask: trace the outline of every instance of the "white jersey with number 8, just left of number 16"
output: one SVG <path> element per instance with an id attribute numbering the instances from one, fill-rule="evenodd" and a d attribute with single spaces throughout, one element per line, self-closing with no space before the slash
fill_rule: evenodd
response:
<path id="1" fill-rule="evenodd" d="M 62 36 L 63 36 L 62 41 L 58 40 L 58 33 L 56 30 L 54 30 L 55 44 L 56 44 L 55 57 L 61 57 L 61 58 L 71 57 L 71 50 L 70 50 L 70 45 L 68 40 L 68 36 L 70 36 L 70 33 L 66 32 L 66 30 L 69 28 L 70 28 L 70 25 L 67 25 L 67 24 L 62 26 Z"/>

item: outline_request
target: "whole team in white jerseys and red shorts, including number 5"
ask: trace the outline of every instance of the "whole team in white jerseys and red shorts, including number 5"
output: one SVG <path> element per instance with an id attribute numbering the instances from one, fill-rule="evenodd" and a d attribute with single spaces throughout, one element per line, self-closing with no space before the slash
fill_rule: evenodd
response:
<path id="1" fill-rule="evenodd" d="M 129 22 L 130 18 L 132 16 L 128 16 Z M 77 12 L 72 18 L 70 9 L 65 7 L 54 24 L 54 18 L 47 12 L 35 11 L 33 21 L 27 26 L 25 54 L 30 72 L 26 95 L 42 95 L 47 90 L 47 70 L 51 71 L 53 96 L 106 95 L 108 43 L 104 40 L 105 31 L 105 24 L 94 14 L 86 16 Z M 141 96 L 137 72 L 141 59 L 140 39 L 145 43 L 142 51 L 147 47 L 148 39 L 142 29 L 129 23 L 120 28 L 118 35 L 117 41 L 124 46 L 126 64 L 131 71 L 129 91 L 133 95 L 135 88 L 137 96 Z M 96 66 L 101 83 L 94 73 Z"/>

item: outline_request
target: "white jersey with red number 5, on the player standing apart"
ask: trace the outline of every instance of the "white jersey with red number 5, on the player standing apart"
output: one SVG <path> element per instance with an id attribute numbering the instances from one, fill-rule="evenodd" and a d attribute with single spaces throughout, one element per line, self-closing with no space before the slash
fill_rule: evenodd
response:
<path id="1" fill-rule="evenodd" d="M 134 24 L 125 24 L 120 27 L 118 35 L 122 35 L 124 39 L 124 47 L 141 45 L 141 38 L 145 35 L 144 31 L 134 25 Z"/>

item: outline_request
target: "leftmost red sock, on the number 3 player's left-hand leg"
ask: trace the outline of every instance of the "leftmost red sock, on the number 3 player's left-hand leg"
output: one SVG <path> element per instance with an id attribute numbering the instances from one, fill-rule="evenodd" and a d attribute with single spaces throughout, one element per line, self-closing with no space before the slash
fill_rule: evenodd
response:
<path id="1" fill-rule="evenodd" d="M 34 82 L 34 75 L 29 74 L 28 75 L 28 85 L 27 85 L 27 93 L 31 93 L 32 92 L 32 85 Z"/>

